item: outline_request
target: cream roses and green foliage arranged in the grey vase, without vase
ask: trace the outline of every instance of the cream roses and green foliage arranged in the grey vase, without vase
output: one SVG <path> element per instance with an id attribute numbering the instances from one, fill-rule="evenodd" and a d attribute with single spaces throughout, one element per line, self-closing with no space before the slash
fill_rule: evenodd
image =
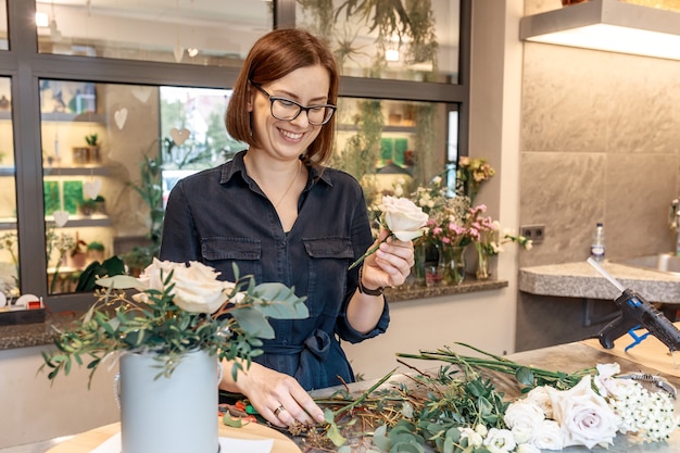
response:
<path id="1" fill-rule="evenodd" d="M 202 263 L 189 265 L 153 260 L 139 279 L 116 275 L 97 281 L 97 302 L 68 329 L 56 329 L 56 350 L 42 353 L 50 379 L 67 375 L 73 363 L 87 367 L 90 379 L 111 354 L 124 351 L 153 352 L 160 375 L 171 374 L 182 354 L 206 350 L 219 360 L 243 358 L 247 364 L 260 354 L 261 338 L 274 338 L 267 322 L 273 318 L 304 318 L 304 298 L 281 284 L 255 285 L 252 277 L 222 281 L 219 273 Z M 126 290 L 136 288 L 133 300 Z M 242 369 L 235 361 L 232 375 Z"/>

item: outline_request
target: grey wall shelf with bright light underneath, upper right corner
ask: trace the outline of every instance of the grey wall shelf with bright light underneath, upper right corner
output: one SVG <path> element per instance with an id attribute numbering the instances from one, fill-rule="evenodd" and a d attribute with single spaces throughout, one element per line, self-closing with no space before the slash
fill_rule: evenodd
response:
<path id="1" fill-rule="evenodd" d="M 519 38 L 680 60 L 680 13 L 619 0 L 590 0 L 522 17 Z"/>

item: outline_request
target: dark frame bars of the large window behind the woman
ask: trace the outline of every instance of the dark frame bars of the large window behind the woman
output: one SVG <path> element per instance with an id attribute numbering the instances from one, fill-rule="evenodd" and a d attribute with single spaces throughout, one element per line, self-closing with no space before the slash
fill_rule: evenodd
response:
<path id="1" fill-rule="evenodd" d="M 95 59 L 38 53 L 35 1 L 8 0 L 9 50 L 0 51 L 0 76 L 11 78 L 12 127 L 16 181 L 17 235 L 22 292 L 47 294 L 42 162 L 40 137 L 39 79 L 61 78 L 95 83 L 175 85 L 197 88 L 231 88 L 238 68 L 197 66 L 181 63 Z M 290 27 L 295 22 L 295 0 L 274 1 L 274 26 Z M 471 0 L 461 0 L 458 84 L 423 83 L 343 76 L 340 96 L 350 98 L 444 102 L 457 105 L 458 155 L 466 155 L 469 129 L 469 74 Z M 442 149 L 445 154 L 446 150 Z M 24 239 L 22 241 L 22 239 Z M 54 294 L 46 298 L 53 312 L 84 310 L 92 303 L 89 293 Z"/>

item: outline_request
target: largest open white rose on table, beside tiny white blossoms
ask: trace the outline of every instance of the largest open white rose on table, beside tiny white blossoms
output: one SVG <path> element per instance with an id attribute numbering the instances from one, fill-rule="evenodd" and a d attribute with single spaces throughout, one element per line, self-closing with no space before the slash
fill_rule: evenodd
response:
<path id="1" fill-rule="evenodd" d="M 562 427 L 565 446 L 592 449 L 613 443 L 619 418 L 604 398 L 592 390 L 590 376 L 569 390 L 549 389 L 549 392 L 553 401 L 553 418 Z"/>

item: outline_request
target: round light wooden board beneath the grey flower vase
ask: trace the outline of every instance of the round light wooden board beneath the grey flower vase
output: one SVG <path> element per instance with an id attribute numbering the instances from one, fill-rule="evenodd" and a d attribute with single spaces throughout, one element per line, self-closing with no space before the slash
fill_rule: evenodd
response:
<path id="1" fill-rule="evenodd" d="M 219 437 L 249 440 L 274 439 L 272 453 L 301 453 L 295 442 L 286 435 L 264 425 L 251 423 L 242 428 L 230 428 L 224 425 L 222 419 L 218 423 Z M 119 430 L 121 424 L 118 423 L 95 428 L 60 443 L 47 453 L 90 453 Z"/>

